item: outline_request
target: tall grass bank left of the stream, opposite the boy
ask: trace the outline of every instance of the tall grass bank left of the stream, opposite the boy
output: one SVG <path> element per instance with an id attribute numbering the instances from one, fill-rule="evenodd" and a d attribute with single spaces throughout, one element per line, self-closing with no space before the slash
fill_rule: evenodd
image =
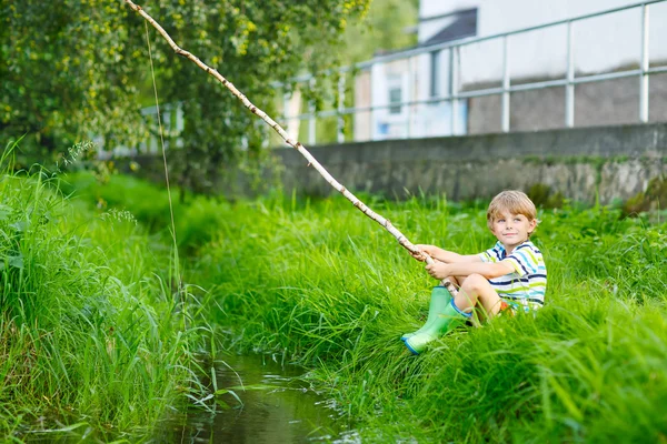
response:
<path id="1" fill-rule="evenodd" d="M 0 175 L 0 436 L 140 440 L 197 390 L 169 248 L 59 179 Z"/>

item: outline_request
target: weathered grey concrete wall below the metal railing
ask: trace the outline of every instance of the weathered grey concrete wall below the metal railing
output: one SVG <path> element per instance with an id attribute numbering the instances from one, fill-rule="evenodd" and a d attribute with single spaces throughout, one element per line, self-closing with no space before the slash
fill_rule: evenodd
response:
<path id="1" fill-rule="evenodd" d="M 404 199 L 424 191 L 470 200 L 542 184 L 576 201 L 595 202 L 599 194 L 610 203 L 667 175 L 667 124 L 390 140 L 309 151 L 352 192 Z M 285 167 L 287 192 L 335 192 L 296 150 L 275 153 Z"/>

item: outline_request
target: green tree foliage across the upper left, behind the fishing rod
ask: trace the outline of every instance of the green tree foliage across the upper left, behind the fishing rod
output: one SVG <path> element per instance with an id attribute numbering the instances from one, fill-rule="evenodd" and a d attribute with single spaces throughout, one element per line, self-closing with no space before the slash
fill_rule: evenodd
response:
<path id="1" fill-rule="evenodd" d="M 335 49 L 350 18 L 370 0 L 155 0 L 140 3 L 183 49 L 215 67 L 267 111 L 272 82 L 339 63 Z M 99 135 L 107 148 L 132 147 L 149 125 L 150 60 L 143 19 L 123 1 L 2 0 L 0 131 L 63 151 Z M 161 103 L 185 111 L 182 150 L 171 155 L 180 181 L 213 185 L 219 167 L 253 157 L 267 130 L 237 100 L 151 29 Z"/>

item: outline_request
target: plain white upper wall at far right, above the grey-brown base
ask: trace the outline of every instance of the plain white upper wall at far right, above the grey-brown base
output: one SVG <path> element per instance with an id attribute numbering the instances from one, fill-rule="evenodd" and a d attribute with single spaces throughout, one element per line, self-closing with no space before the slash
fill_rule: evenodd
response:
<path id="1" fill-rule="evenodd" d="M 548 22 L 566 20 L 603 10 L 637 3 L 636 0 L 422 0 L 420 18 L 478 8 L 478 37 L 498 34 Z M 651 60 L 667 60 L 667 3 L 649 7 Z M 419 40 L 432 36 L 431 26 L 421 24 Z M 640 60 L 641 9 L 577 21 L 574 24 L 575 70 L 577 73 L 613 71 Z M 436 31 L 437 32 L 437 31 Z M 435 33 L 435 32 L 434 32 Z M 502 44 L 487 41 L 461 50 L 461 84 L 496 81 L 502 77 Z M 509 38 L 510 77 L 560 77 L 567 67 L 567 27 L 531 31 Z"/>

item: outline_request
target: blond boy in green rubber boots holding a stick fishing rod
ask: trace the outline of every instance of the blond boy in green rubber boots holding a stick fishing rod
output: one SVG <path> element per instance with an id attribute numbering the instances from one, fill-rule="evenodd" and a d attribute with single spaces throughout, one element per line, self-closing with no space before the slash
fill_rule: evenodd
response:
<path id="1" fill-rule="evenodd" d="M 530 242 L 537 226 L 537 211 L 520 191 L 502 191 L 487 211 L 487 225 L 498 239 L 492 249 L 479 254 L 461 255 L 435 245 L 417 245 L 435 263 L 426 265 L 435 279 L 449 278 L 460 285 L 452 299 L 441 286 L 434 289 L 429 316 L 417 332 L 401 337 L 414 354 L 438 336 L 472 316 L 479 303 L 487 316 L 508 310 L 530 312 L 544 305 L 547 269 L 540 251 Z M 415 255 L 425 261 L 422 255 Z"/>

